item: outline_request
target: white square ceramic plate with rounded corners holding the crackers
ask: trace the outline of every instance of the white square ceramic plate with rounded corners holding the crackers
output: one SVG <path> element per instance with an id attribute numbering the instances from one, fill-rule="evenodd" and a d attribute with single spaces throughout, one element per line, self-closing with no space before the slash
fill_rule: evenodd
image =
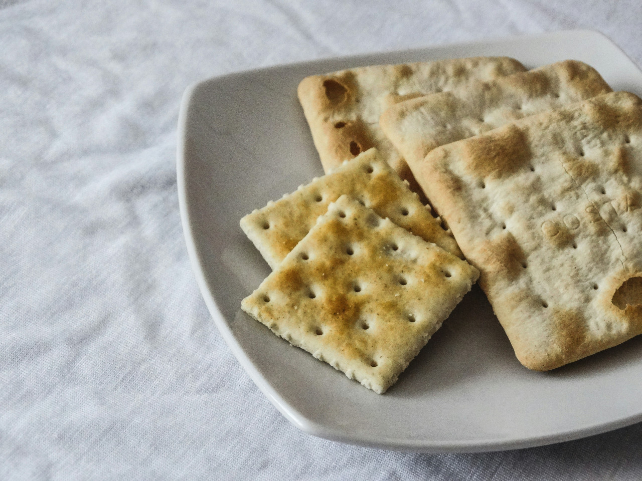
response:
<path id="1" fill-rule="evenodd" d="M 614 90 L 642 94 L 642 72 L 593 31 L 285 65 L 205 80 L 185 92 L 178 194 L 196 279 L 241 365 L 305 432 L 383 448 L 484 451 L 566 441 L 642 420 L 642 336 L 555 371 L 528 371 L 477 287 L 383 396 L 241 311 L 241 299 L 270 268 L 239 219 L 322 174 L 297 101 L 299 81 L 358 65 L 478 55 L 512 56 L 529 68 L 582 60 Z"/>

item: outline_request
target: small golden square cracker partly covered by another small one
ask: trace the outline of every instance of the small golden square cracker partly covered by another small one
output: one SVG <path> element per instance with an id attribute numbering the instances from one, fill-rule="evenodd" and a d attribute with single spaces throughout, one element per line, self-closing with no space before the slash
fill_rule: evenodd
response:
<path id="1" fill-rule="evenodd" d="M 381 217 L 462 256 L 455 239 L 408 189 L 377 149 L 370 149 L 331 173 L 301 186 L 241 219 L 241 228 L 274 269 L 342 194 L 359 199 Z"/>

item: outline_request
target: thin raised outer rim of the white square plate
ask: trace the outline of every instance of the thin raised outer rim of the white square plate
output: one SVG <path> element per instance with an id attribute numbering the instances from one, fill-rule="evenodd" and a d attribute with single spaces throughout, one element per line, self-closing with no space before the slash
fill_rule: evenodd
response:
<path id="1" fill-rule="evenodd" d="M 234 78 L 242 77 L 248 74 L 257 74 L 261 72 L 275 71 L 284 68 L 295 68 L 295 67 L 307 67 L 313 65 L 322 65 L 323 63 L 331 63 L 337 61 L 345 62 L 354 62 L 361 63 L 367 62 L 367 59 L 372 58 L 372 56 L 381 56 L 381 55 L 416 55 L 422 52 L 431 52 L 435 51 L 453 49 L 453 48 L 464 48 L 467 46 L 480 46 L 480 45 L 491 45 L 491 44 L 503 44 L 511 40 L 544 40 L 551 39 L 554 37 L 564 37 L 568 35 L 586 35 L 588 37 L 596 37 L 598 41 L 606 41 L 611 44 L 612 47 L 618 49 L 622 55 L 630 60 L 630 62 L 640 71 L 638 65 L 632 58 L 630 58 L 625 51 L 621 49 L 611 38 L 607 37 L 604 33 L 591 30 L 591 29 L 573 29 L 573 30 L 558 30 L 544 33 L 535 33 L 528 35 L 513 35 L 510 37 L 496 37 L 496 38 L 483 38 L 481 40 L 474 40 L 469 42 L 452 42 L 446 44 L 437 44 L 434 46 L 428 47 L 419 47 L 413 49 L 401 49 L 401 50 L 385 50 L 385 51 L 376 51 L 370 53 L 360 53 L 356 55 L 347 55 L 347 56 L 328 56 L 317 58 L 315 60 L 306 60 L 302 62 L 291 62 L 291 63 L 280 63 L 278 65 L 272 65 L 270 67 L 259 67 L 256 69 L 247 69 L 236 72 L 230 72 L 228 74 L 223 74 L 220 76 L 213 76 L 211 78 L 206 78 L 204 80 L 195 81 L 191 83 L 182 96 L 180 101 L 180 109 L 178 112 L 178 128 L 177 128 L 177 190 L 178 190 L 178 207 L 180 212 L 180 220 L 182 224 L 182 230 L 184 234 L 184 239 L 186 242 L 187 256 L 189 258 L 189 263 L 191 265 L 192 271 L 195 274 L 196 283 L 200 289 L 201 295 L 204 298 L 205 305 L 214 319 L 214 323 L 218 327 L 223 340 L 229 346 L 230 350 L 234 354 L 234 357 L 238 360 L 241 367 L 248 373 L 254 384 L 257 385 L 259 390 L 270 400 L 272 405 L 281 412 L 291 424 L 296 426 L 299 430 L 305 432 L 306 434 L 315 435 L 317 437 L 322 437 L 324 439 L 329 439 L 331 441 L 339 441 L 341 443 L 355 444 L 358 446 L 365 446 L 370 448 L 384 448 L 390 450 L 400 450 L 400 451 L 415 451 L 422 453 L 473 453 L 473 452 L 486 452 L 486 451 L 501 451 L 501 450 L 513 450 L 513 449 L 522 449 L 522 448 L 531 448 L 535 446 L 543 446 L 546 444 L 561 443 L 564 441 L 572 441 L 574 439 L 580 439 L 582 437 L 587 437 L 591 435 L 602 434 L 604 432 L 609 432 L 618 428 L 623 428 L 625 426 L 632 425 L 642 421 L 642 410 L 638 414 L 628 416 L 621 419 L 616 419 L 614 421 L 607 421 L 605 423 L 596 423 L 591 426 L 584 426 L 575 430 L 565 430 L 564 432 L 559 432 L 557 434 L 546 434 L 539 436 L 525 437 L 523 439 L 512 439 L 507 441 L 496 441 L 494 439 L 489 439 L 487 441 L 481 441 L 477 443 L 470 443 L 466 441 L 458 443 L 431 443 L 428 440 L 404 440 L 399 438 L 390 438 L 382 439 L 381 437 L 376 437 L 376 439 L 369 435 L 363 435 L 363 433 L 352 432 L 352 435 L 349 435 L 341 430 L 334 428 L 328 428 L 321 423 L 317 423 L 297 410 L 293 405 L 288 403 L 282 398 L 279 392 L 272 387 L 270 382 L 268 382 L 263 375 L 259 372 L 254 363 L 245 355 L 243 349 L 239 345 L 236 337 L 232 331 L 227 326 L 225 317 L 221 313 L 218 303 L 216 301 L 216 296 L 214 292 L 209 289 L 207 282 L 207 276 L 205 275 L 204 268 L 202 266 L 201 257 L 198 252 L 198 247 L 196 246 L 195 236 L 193 234 L 191 215 L 189 212 L 189 201 L 187 199 L 187 184 L 186 184 L 186 169 L 187 169 L 187 156 L 186 156 L 186 140 L 187 140 L 187 119 L 189 118 L 189 112 L 193 107 L 192 101 L 195 96 L 196 90 L 205 87 L 207 84 L 215 81 L 219 81 L 225 78 Z M 642 71 L 640 71 L 642 74 Z"/>

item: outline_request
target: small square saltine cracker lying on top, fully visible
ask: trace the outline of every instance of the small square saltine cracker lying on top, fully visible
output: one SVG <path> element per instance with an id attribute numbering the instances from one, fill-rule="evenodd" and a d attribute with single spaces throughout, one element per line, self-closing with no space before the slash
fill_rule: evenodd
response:
<path id="1" fill-rule="evenodd" d="M 464 260 L 342 196 L 241 308 L 381 394 L 477 277 Z"/>

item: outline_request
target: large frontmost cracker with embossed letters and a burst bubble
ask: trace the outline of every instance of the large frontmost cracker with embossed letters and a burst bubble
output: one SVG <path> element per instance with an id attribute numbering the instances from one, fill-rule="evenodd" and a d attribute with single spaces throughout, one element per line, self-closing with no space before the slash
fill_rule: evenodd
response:
<path id="1" fill-rule="evenodd" d="M 642 101 L 614 92 L 437 148 L 417 170 L 530 369 L 642 333 Z"/>

